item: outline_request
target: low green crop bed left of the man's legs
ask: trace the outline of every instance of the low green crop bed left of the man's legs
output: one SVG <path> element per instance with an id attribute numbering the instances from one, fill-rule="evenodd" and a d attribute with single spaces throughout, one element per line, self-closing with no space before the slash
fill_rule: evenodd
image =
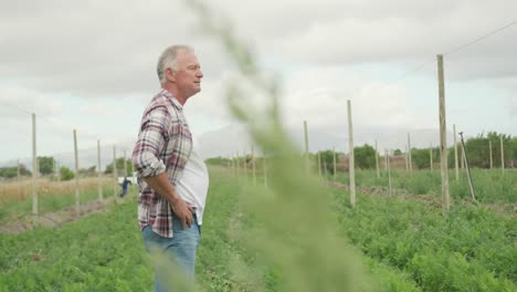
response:
<path id="1" fill-rule="evenodd" d="M 72 197 L 72 196 L 71 196 Z M 0 291 L 150 291 L 135 204 L 61 228 L 0 237 Z"/>

